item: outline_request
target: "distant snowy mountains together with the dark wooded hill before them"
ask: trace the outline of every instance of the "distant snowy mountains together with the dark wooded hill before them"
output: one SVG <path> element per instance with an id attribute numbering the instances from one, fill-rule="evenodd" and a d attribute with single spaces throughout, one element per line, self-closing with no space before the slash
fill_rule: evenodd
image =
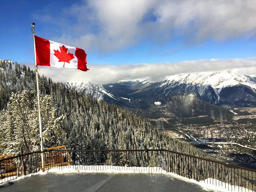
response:
<path id="1" fill-rule="evenodd" d="M 112 84 L 67 82 L 66 86 L 96 100 L 140 112 L 145 116 L 196 116 L 220 111 L 217 106 L 256 106 L 256 79 L 230 73 L 192 73 L 169 76 L 160 82 L 119 81 Z M 218 114 L 217 114 L 218 115 Z"/>

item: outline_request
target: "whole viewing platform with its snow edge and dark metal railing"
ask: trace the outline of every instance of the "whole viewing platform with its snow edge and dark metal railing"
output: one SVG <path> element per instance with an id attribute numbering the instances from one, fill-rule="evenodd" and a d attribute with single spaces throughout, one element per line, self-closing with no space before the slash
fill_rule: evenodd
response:
<path id="1" fill-rule="evenodd" d="M 75 154 L 74 162 L 67 161 L 69 152 Z M 45 172 L 39 153 L 0 160 L 0 191 L 249 192 L 256 189 L 255 170 L 169 150 L 46 150 Z M 108 162 L 108 155 L 114 162 Z M 23 163 L 16 163 L 22 160 Z"/>

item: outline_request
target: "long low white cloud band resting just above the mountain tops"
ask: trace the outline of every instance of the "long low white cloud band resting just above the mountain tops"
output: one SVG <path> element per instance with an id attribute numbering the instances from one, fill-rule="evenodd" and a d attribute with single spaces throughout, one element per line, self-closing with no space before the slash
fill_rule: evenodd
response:
<path id="1" fill-rule="evenodd" d="M 22 64 L 22 63 L 21 63 Z M 27 65 L 27 63 L 26 63 Z M 229 60 L 194 60 L 177 63 L 155 63 L 137 65 L 88 65 L 90 69 L 82 72 L 76 69 L 59 69 L 38 66 L 38 72 L 54 81 L 91 82 L 107 84 L 119 80 L 150 79 L 164 80 L 166 76 L 194 72 L 230 72 L 232 74 L 256 74 L 256 58 Z M 33 65 L 31 65 L 33 69 Z"/>

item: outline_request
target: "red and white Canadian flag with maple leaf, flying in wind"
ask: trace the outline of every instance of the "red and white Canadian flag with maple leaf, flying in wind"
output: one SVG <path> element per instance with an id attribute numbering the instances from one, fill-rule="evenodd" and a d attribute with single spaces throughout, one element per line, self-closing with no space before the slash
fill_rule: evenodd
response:
<path id="1" fill-rule="evenodd" d="M 35 36 L 36 65 L 57 68 L 75 68 L 88 71 L 86 53 L 76 47 L 67 46 Z"/>

